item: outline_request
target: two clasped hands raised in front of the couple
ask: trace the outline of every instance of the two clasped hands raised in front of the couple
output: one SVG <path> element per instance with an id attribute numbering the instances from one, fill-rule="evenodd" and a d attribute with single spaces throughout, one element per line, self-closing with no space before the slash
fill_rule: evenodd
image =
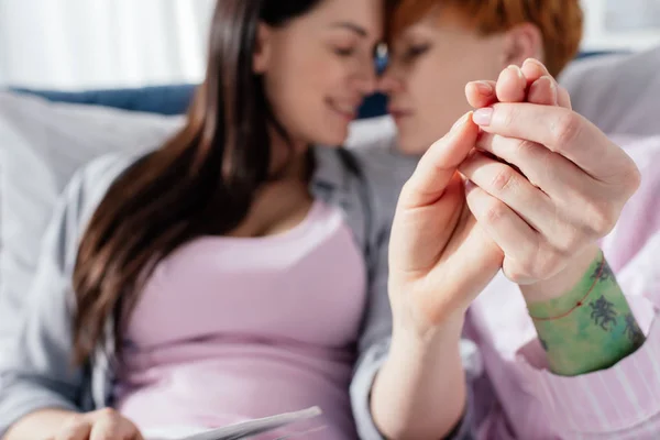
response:
<path id="1" fill-rule="evenodd" d="M 422 156 L 392 230 L 394 323 L 421 336 L 461 321 L 499 270 L 528 301 L 570 289 L 640 183 L 541 63 L 465 95 L 475 111 Z"/>

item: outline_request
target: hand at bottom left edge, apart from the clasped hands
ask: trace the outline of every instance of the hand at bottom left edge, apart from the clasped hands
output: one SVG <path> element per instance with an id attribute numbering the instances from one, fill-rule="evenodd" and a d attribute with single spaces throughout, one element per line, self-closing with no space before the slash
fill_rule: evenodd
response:
<path id="1" fill-rule="evenodd" d="M 48 440 L 144 440 L 138 427 L 112 408 L 72 415 Z"/>

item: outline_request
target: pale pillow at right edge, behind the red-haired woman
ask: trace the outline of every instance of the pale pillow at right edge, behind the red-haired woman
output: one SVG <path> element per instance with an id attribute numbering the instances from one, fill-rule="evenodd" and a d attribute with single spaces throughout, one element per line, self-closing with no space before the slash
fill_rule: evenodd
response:
<path id="1" fill-rule="evenodd" d="M 572 63 L 560 82 L 575 111 L 607 134 L 660 134 L 660 47 Z"/>

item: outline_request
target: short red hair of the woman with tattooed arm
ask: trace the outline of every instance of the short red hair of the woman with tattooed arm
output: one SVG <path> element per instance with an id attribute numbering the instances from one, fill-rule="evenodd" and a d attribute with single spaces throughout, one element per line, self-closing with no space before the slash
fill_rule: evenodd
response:
<path id="1" fill-rule="evenodd" d="M 543 36 L 546 66 L 557 76 L 578 54 L 584 16 L 579 0 L 388 0 L 388 37 L 436 6 L 453 8 L 484 35 L 532 23 Z"/>

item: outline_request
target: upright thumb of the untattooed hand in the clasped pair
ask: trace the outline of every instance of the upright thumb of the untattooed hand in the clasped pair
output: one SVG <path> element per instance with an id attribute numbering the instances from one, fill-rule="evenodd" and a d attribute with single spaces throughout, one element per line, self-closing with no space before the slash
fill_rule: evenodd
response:
<path id="1" fill-rule="evenodd" d="M 472 121 L 472 112 L 469 112 L 421 157 L 402 190 L 399 208 L 415 209 L 438 201 L 458 166 L 476 144 L 477 136 L 479 127 Z"/>

